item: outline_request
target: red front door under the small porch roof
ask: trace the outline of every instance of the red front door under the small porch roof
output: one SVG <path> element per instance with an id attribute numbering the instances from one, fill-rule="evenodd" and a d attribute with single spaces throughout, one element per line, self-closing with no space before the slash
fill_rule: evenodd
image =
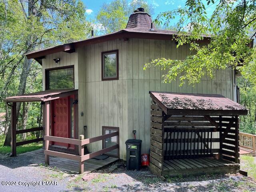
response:
<path id="1" fill-rule="evenodd" d="M 53 136 L 69 137 L 70 130 L 70 105 L 68 97 L 53 100 L 52 105 L 52 126 Z M 68 144 L 54 142 L 54 145 L 68 148 Z"/>

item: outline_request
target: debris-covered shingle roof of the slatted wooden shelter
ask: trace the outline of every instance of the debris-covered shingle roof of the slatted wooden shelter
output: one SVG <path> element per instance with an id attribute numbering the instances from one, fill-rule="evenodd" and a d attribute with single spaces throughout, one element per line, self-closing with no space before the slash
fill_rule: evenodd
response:
<path id="1" fill-rule="evenodd" d="M 244 106 L 222 95 L 150 91 L 150 97 L 166 114 L 232 116 L 248 113 Z"/>

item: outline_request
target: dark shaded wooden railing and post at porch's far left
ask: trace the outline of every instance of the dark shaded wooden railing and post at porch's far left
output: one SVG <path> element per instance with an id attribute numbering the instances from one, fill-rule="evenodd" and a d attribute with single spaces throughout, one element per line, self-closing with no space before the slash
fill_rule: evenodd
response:
<path id="1" fill-rule="evenodd" d="M 17 155 L 17 152 L 16 152 L 16 147 L 17 146 L 43 141 L 43 138 L 36 138 L 36 139 L 16 142 L 16 135 L 17 134 L 30 133 L 30 132 L 41 131 L 41 130 L 43 130 L 42 127 L 36 127 L 36 128 L 31 128 L 31 129 L 23 129 L 23 130 L 13 129 L 12 130 L 12 156 Z"/>

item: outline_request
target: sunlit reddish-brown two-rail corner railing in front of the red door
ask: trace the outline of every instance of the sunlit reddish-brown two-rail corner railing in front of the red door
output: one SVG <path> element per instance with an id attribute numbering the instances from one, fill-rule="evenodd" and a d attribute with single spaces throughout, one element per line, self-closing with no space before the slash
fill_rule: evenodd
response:
<path id="1" fill-rule="evenodd" d="M 96 142 L 96 141 L 104 140 L 104 139 L 107 139 L 107 138 L 111 138 L 111 137 L 114 137 L 114 136 L 119 137 L 119 132 L 117 131 L 117 132 L 113 132 L 113 133 L 110 133 L 110 134 L 105 134 L 105 135 L 101 135 L 101 136 L 97 136 L 97 137 L 93 137 L 93 138 L 88 138 L 88 139 L 82 139 L 82 140 L 64 138 L 64 137 L 55 137 L 55 136 L 44 136 L 44 140 L 45 140 L 45 150 L 44 150 L 45 163 L 49 164 L 49 156 L 61 157 L 61 158 L 66 158 L 66 159 L 70 159 L 70 160 L 76 160 L 76 161 L 79 162 L 79 172 L 80 172 L 80 174 L 82 174 L 84 172 L 84 161 L 85 160 L 88 160 L 90 158 L 94 158 L 95 156 L 98 156 L 100 154 L 104 154 L 106 152 L 110 152 L 114 149 L 119 148 L 119 143 L 118 143 L 118 144 L 113 145 L 111 147 L 107 147 L 107 148 L 104 148 L 102 150 L 92 152 L 92 153 L 89 153 L 89 154 L 85 155 L 84 154 L 84 145 L 90 144 L 90 143 L 93 143 L 93 142 Z M 79 155 L 67 154 L 67 153 L 63 153 L 63 152 L 56 152 L 56 151 L 49 150 L 50 141 L 77 145 L 79 147 Z"/>

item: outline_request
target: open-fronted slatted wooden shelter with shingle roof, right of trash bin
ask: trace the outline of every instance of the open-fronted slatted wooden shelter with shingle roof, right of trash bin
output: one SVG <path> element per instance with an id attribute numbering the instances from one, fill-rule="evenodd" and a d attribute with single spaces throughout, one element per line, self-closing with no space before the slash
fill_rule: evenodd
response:
<path id="1" fill-rule="evenodd" d="M 221 95 L 150 92 L 150 170 L 159 176 L 237 173 L 239 115 Z"/>

